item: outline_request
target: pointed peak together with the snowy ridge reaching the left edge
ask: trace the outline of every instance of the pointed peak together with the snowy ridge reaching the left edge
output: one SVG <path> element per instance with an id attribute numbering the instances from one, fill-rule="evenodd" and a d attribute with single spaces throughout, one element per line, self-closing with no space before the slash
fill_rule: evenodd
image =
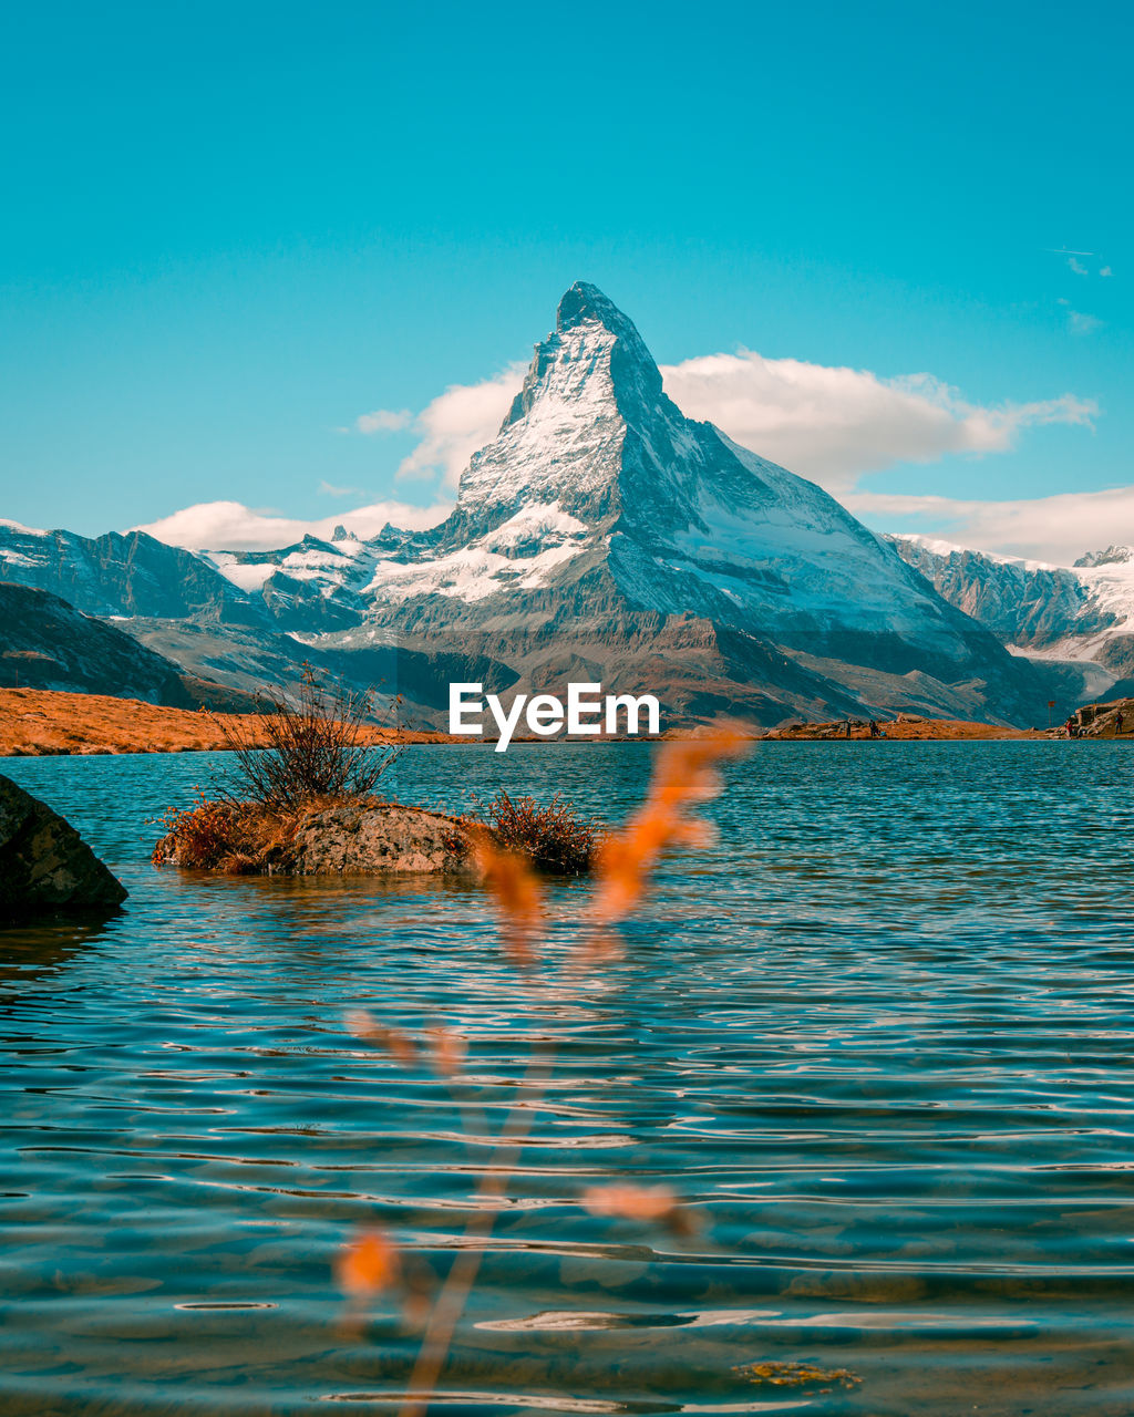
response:
<path id="1" fill-rule="evenodd" d="M 0 526 L 0 577 L 128 616 L 240 687 L 302 657 L 384 680 L 422 723 L 449 679 L 652 691 L 670 723 L 903 708 L 1028 723 L 1048 697 L 825 492 L 686 418 L 632 322 L 585 283 L 439 526 L 207 555 Z"/>

